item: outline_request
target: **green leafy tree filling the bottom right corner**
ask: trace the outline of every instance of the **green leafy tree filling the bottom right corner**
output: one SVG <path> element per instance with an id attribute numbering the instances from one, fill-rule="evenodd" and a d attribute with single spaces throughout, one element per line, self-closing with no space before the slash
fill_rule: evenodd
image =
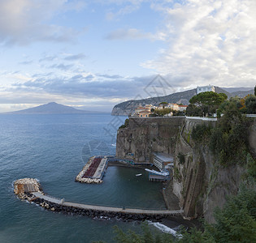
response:
<path id="1" fill-rule="evenodd" d="M 216 242 L 256 242 L 255 212 L 256 192 L 243 185 L 222 210 L 215 210 L 216 223 L 206 226 L 206 231 Z"/>

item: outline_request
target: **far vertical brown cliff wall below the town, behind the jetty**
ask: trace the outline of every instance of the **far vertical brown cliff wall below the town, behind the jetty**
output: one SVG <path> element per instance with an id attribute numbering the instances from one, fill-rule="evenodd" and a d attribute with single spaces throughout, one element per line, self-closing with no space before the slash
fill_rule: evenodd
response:
<path id="1" fill-rule="evenodd" d="M 140 163 L 150 161 L 154 151 L 174 154 L 183 124 L 184 117 L 130 117 L 128 127 L 117 132 L 116 156 Z"/>

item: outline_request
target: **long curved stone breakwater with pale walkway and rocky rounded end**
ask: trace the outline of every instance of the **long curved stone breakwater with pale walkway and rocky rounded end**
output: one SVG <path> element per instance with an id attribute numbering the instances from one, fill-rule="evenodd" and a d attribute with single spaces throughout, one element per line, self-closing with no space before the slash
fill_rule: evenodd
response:
<path id="1" fill-rule="evenodd" d="M 54 198 L 46 195 L 41 190 L 41 185 L 37 180 L 25 178 L 14 183 L 14 192 L 21 199 L 27 200 L 29 203 L 36 203 L 38 206 L 49 211 L 63 212 L 68 215 L 87 215 L 92 218 L 109 220 L 111 218 L 129 220 L 151 220 L 153 222 L 160 221 L 167 215 L 180 215 L 181 210 L 153 210 L 153 209 L 137 209 L 129 207 L 106 207 L 80 203 L 64 202 L 64 198 Z"/>

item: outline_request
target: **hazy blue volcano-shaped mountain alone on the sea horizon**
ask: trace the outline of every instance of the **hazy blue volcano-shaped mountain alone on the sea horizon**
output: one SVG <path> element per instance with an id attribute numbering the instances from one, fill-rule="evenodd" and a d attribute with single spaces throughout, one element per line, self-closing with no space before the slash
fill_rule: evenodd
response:
<path id="1" fill-rule="evenodd" d="M 50 102 L 42 104 L 37 107 L 22 109 L 11 112 L 12 114 L 78 114 L 78 113 L 92 113 L 85 110 L 75 109 L 71 106 Z"/>

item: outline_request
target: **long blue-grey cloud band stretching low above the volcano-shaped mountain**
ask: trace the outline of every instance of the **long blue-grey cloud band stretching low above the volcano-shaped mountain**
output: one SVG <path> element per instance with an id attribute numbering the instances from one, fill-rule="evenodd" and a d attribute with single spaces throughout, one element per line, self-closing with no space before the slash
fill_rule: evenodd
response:
<path id="1" fill-rule="evenodd" d="M 135 99 L 163 96 L 174 92 L 171 83 L 158 82 L 155 76 L 122 77 L 119 75 L 77 74 L 71 77 L 37 75 L 27 82 L 15 83 L 11 92 L 44 92 L 62 96 L 83 96 L 87 99 Z M 162 80 L 163 81 L 163 80 Z M 26 103 L 26 102 L 23 102 Z"/>

